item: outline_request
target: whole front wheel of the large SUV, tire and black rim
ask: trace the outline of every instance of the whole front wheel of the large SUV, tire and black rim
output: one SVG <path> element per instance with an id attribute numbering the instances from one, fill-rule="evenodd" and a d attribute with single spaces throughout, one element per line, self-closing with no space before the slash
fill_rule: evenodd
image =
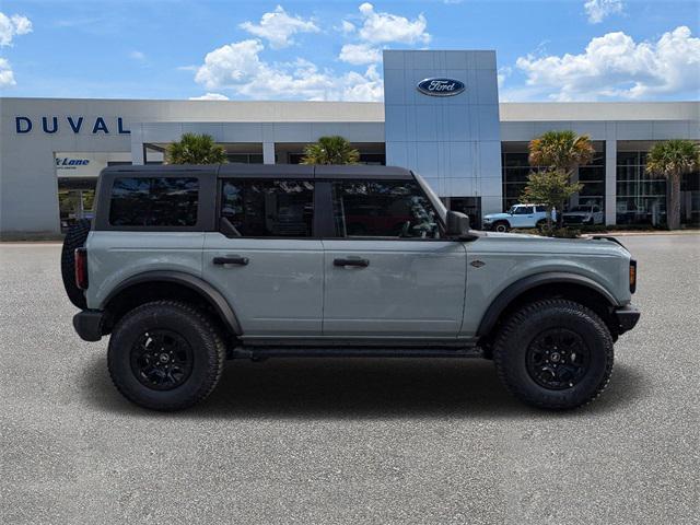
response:
<path id="1" fill-rule="evenodd" d="M 612 338 L 593 311 L 567 300 L 544 300 L 501 327 L 493 361 L 501 381 L 522 401 L 546 409 L 595 399 L 612 372 Z"/>

